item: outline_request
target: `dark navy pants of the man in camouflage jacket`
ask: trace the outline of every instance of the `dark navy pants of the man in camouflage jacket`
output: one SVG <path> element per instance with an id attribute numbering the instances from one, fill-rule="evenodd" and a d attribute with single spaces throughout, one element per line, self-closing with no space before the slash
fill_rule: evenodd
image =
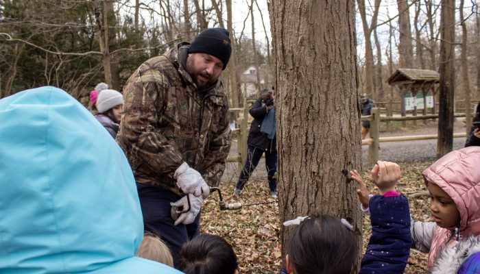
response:
<path id="1" fill-rule="evenodd" d="M 173 256 L 173 264 L 178 265 L 178 254 L 185 242 L 200 233 L 200 213 L 189 225 L 174 225 L 170 216 L 170 203 L 178 201 L 180 196 L 156 186 L 136 183 L 139 191 L 145 230 L 154 232 L 167 244 Z"/>

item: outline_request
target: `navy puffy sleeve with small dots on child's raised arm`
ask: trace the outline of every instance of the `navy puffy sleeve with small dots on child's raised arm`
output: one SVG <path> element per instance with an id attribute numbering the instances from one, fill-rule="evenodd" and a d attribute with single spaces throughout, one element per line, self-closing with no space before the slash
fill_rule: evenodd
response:
<path id="1" fill-rule="evenodd" d="M 410 212 L 407 197 L 370 199 L 372 236 L 361 260 L 360 273 L 403 273 L 410 254 Z"/>

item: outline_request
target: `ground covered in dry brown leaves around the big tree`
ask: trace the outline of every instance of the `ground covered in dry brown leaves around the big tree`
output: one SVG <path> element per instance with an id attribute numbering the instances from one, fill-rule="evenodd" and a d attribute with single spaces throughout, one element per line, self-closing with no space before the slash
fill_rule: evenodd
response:
<path id="1" fill-rule="evenodd" d="M 400 163 L 402 179 L 397 190 L 405 195 L 424 190 L 421 173 L 431 162 Z M 259 168 L 261 168 L 259 166 Z M 370 192 L 376 190 L 367 170 L 363 172 Z M 221 184 L 226 203 L 232 199 L 233 182 Z M 240 273 L 278 273 L 281 264 L 280 219 L 278 204 L 270 198 L 267 178 L 253 176 L 242 193 L 242 203 L 273 201 L 259 206 L 248 206 L 241 210 L 220 211 L 218 194 L 214 192 L 202 210 L 202 232 L 217 234 L 230 242 L 239 258 Z M 410 199 L 411 216 L 420 221 L 430 221 L 429 198 Z M 370 238 L 370 219 L 363 216 L 363 249 Z M 411 249 L 405 273 L 427 273 L 427 254 Z"/>

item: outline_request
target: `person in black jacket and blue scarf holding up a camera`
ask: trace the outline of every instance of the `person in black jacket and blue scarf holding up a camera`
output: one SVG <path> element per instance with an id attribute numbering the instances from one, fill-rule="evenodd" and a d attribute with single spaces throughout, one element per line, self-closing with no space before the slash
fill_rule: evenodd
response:
<path id="1" fill-rule="evenodd" d="M 256 99 L 250 108 L 250 115 L 254 118 L 250 132 L 248 133 L 248 150 L 245 166 L 240 173 L 239 181 L 233 192 L 233 195 L 240 198 L 243 186 L 248 182 L 248 178 L 254 171 L 259 160 L 265 153 L 265 165 L 267 166 L 268 185 L 270 194 L 276 198 L 277 188 L 276 173 L 277 151 L 275 134 L 275 94 L 273 90 L 267 88 L 261 90 L 261 97 Z"/>

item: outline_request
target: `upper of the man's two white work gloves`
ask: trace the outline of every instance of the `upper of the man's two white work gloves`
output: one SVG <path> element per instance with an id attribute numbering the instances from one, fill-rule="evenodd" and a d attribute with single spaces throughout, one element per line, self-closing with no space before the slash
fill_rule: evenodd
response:
<path id="1" fill-rule="evenodd" d="M 202 175 L 192 169 L 187 162 L 183 162 L 173 174 L 173 179 L 177 180 L 177 186 L 182 189 L 185 194 L 193 194 L 195 197 L 208 197 L 210 188 L 206 184 Z"/>

